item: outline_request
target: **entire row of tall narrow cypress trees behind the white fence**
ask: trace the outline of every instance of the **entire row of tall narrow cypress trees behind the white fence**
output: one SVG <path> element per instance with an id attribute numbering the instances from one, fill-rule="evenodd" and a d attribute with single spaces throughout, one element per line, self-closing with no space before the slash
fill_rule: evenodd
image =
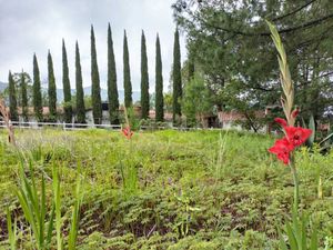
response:
<path id="1" fill-rule="evenodd" d="M 100 77 L 97 62 L 97 50 L 95 50 L 95 38 L 93 27 L 91 26 L 91 100 L 92 100 L 92 113 L 94 123 L 101 123 L 102 120 L 102 102 L 101 102 L 101 88 Z M 27 106 L 27 83 L 24 82 L 24 76 L 21 77 L 21 102 L 22 102 L 22 114 L 26 120 L 28 117 Z M 52 56 L 49 50 L 48 52 L 48 100 L 49 100 L 49 120 L 57 120 L 57 86 L 53 72 Z M 63 87 L 63 111 L 64 121 L 67 123 L 72 122 L 73 110 L 71 106 L 71 84 L 69 78 L 69 67 L 64 40 L 62 40 L 62 87 Z M 123 37 L 123 87 L 124 87 L 124 106 L 127 108 L 132 106 L 132 83 L 130 74 L 130 59 L 128 49 L 128 38 L 124 31 Z M 78 41 L 75 43 L 75 89 L 77 89 L 77 118 L 78 123 L 85 123 L 85 107 L 84 107 L 84 93 L 82 87 L 82 70 L 80 63 L 80 50 Z M 9 102 L 11 119 L 18 120 L 17 111 L 17 98 L 16 98 L 14 80 L 11 72 L 9 72 Z M 174 50 L 173 50 L 173 120 L 175 121 L 176 116 L 181 116 L 180 99 L 182 97 L 182 80 L 181 80 L 181 62 L 180 62 L 180 44 L 179 44 L 179 31 L 174 33 Z M 117 71 L 115 60 L 113 52 L 113 40 L 110 23 L 108 26 L 108 101 L 109 101 L 109 114 L 110 123 L 119 123 L 119 96 L 117 88 Z M 33 90 L 32 90 L 32 102 L 34 116 L 38 121 L 43 120 L 42 116 L 42 94 L 41 94 L 41 82 L 40 72 L 36 53 L 33 54 Z M 149 73 L 148 73 L 148 58 L 147 58 L 147 46 L 145 37 L 142 31 L 141 34 L 141 110 L 142 119 L 149 118 L 150 100 L 149 100 Z M 159 34 L 155 41 L 155 120 L 164 120 L 164 101 L 163 101 L 163 77 L 162 77 L 162 60 L 161 60 L 161 47 Z"/>

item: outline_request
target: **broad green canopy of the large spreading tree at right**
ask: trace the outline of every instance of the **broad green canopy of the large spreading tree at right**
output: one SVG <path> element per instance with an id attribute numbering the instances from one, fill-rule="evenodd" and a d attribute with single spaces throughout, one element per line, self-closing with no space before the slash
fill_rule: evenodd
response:
<path id="1" fill-rule="evenodd" d="M 332 1 L 178 0 L 173 9 L 220 110 L 279 104 L 279 66 L 265 20 L 282 36 L 302 114 L 319 118 L 332 103 Z"/>

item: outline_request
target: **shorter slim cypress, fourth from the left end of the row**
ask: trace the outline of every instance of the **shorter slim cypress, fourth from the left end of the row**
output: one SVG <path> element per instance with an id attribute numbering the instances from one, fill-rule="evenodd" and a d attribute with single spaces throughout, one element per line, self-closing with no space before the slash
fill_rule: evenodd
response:
<path id="1" fill-rule="evenodd" d="M 57 87 L 56 87 L 56 78 L 53 72 L 53 61 L 52 56 L 49 50 L 48 53 L 48 72 L 49 72 L 49 111 L 50 111 L 50 120 L 56 121 L 57 119 Z"/>

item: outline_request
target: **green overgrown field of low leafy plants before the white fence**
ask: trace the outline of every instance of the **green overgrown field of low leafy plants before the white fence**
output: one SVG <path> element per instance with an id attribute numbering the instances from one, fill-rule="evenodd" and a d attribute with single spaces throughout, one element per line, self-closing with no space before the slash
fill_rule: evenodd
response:
<path id="1" fill-rule="evenodd" d="M 1 249 L 9 249 L 8 207 L 12 220 L 18 219 L 19 249 L 34 249 L 14 194 L 22 166 L 37 187 L 46 178 L 48 210 L 52 168 L 59 170 L 64 236 L 80 166 L 83 200 L 77 249 L 82 250 L 278 249 L 276 229 L 290 217 L 292 176 L 268 152 L 274 138 L 266 136 L 157 131 L 138 132 L 128 140 L 104 130 L 24 130 L 17 132 L 19 150 L 6 138 L 2 132 Z M 296 162 L 301 207 L 311 214 L 324 248 L 333 241 L 333 153 L 301 148 Z M 56 237 L 52 244 L 56 249 Z"/>

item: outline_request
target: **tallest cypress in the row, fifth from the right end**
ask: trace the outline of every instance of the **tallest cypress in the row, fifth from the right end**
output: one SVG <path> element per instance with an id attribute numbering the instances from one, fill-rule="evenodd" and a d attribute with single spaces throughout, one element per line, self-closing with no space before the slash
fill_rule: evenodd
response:
<path id="1" fill-rule="evenodd" d="M 110 123 L 119 124 L 119 99 L 117 89 L 115 60 L 110 23 L 108 26 L 108 98 Z"/>

